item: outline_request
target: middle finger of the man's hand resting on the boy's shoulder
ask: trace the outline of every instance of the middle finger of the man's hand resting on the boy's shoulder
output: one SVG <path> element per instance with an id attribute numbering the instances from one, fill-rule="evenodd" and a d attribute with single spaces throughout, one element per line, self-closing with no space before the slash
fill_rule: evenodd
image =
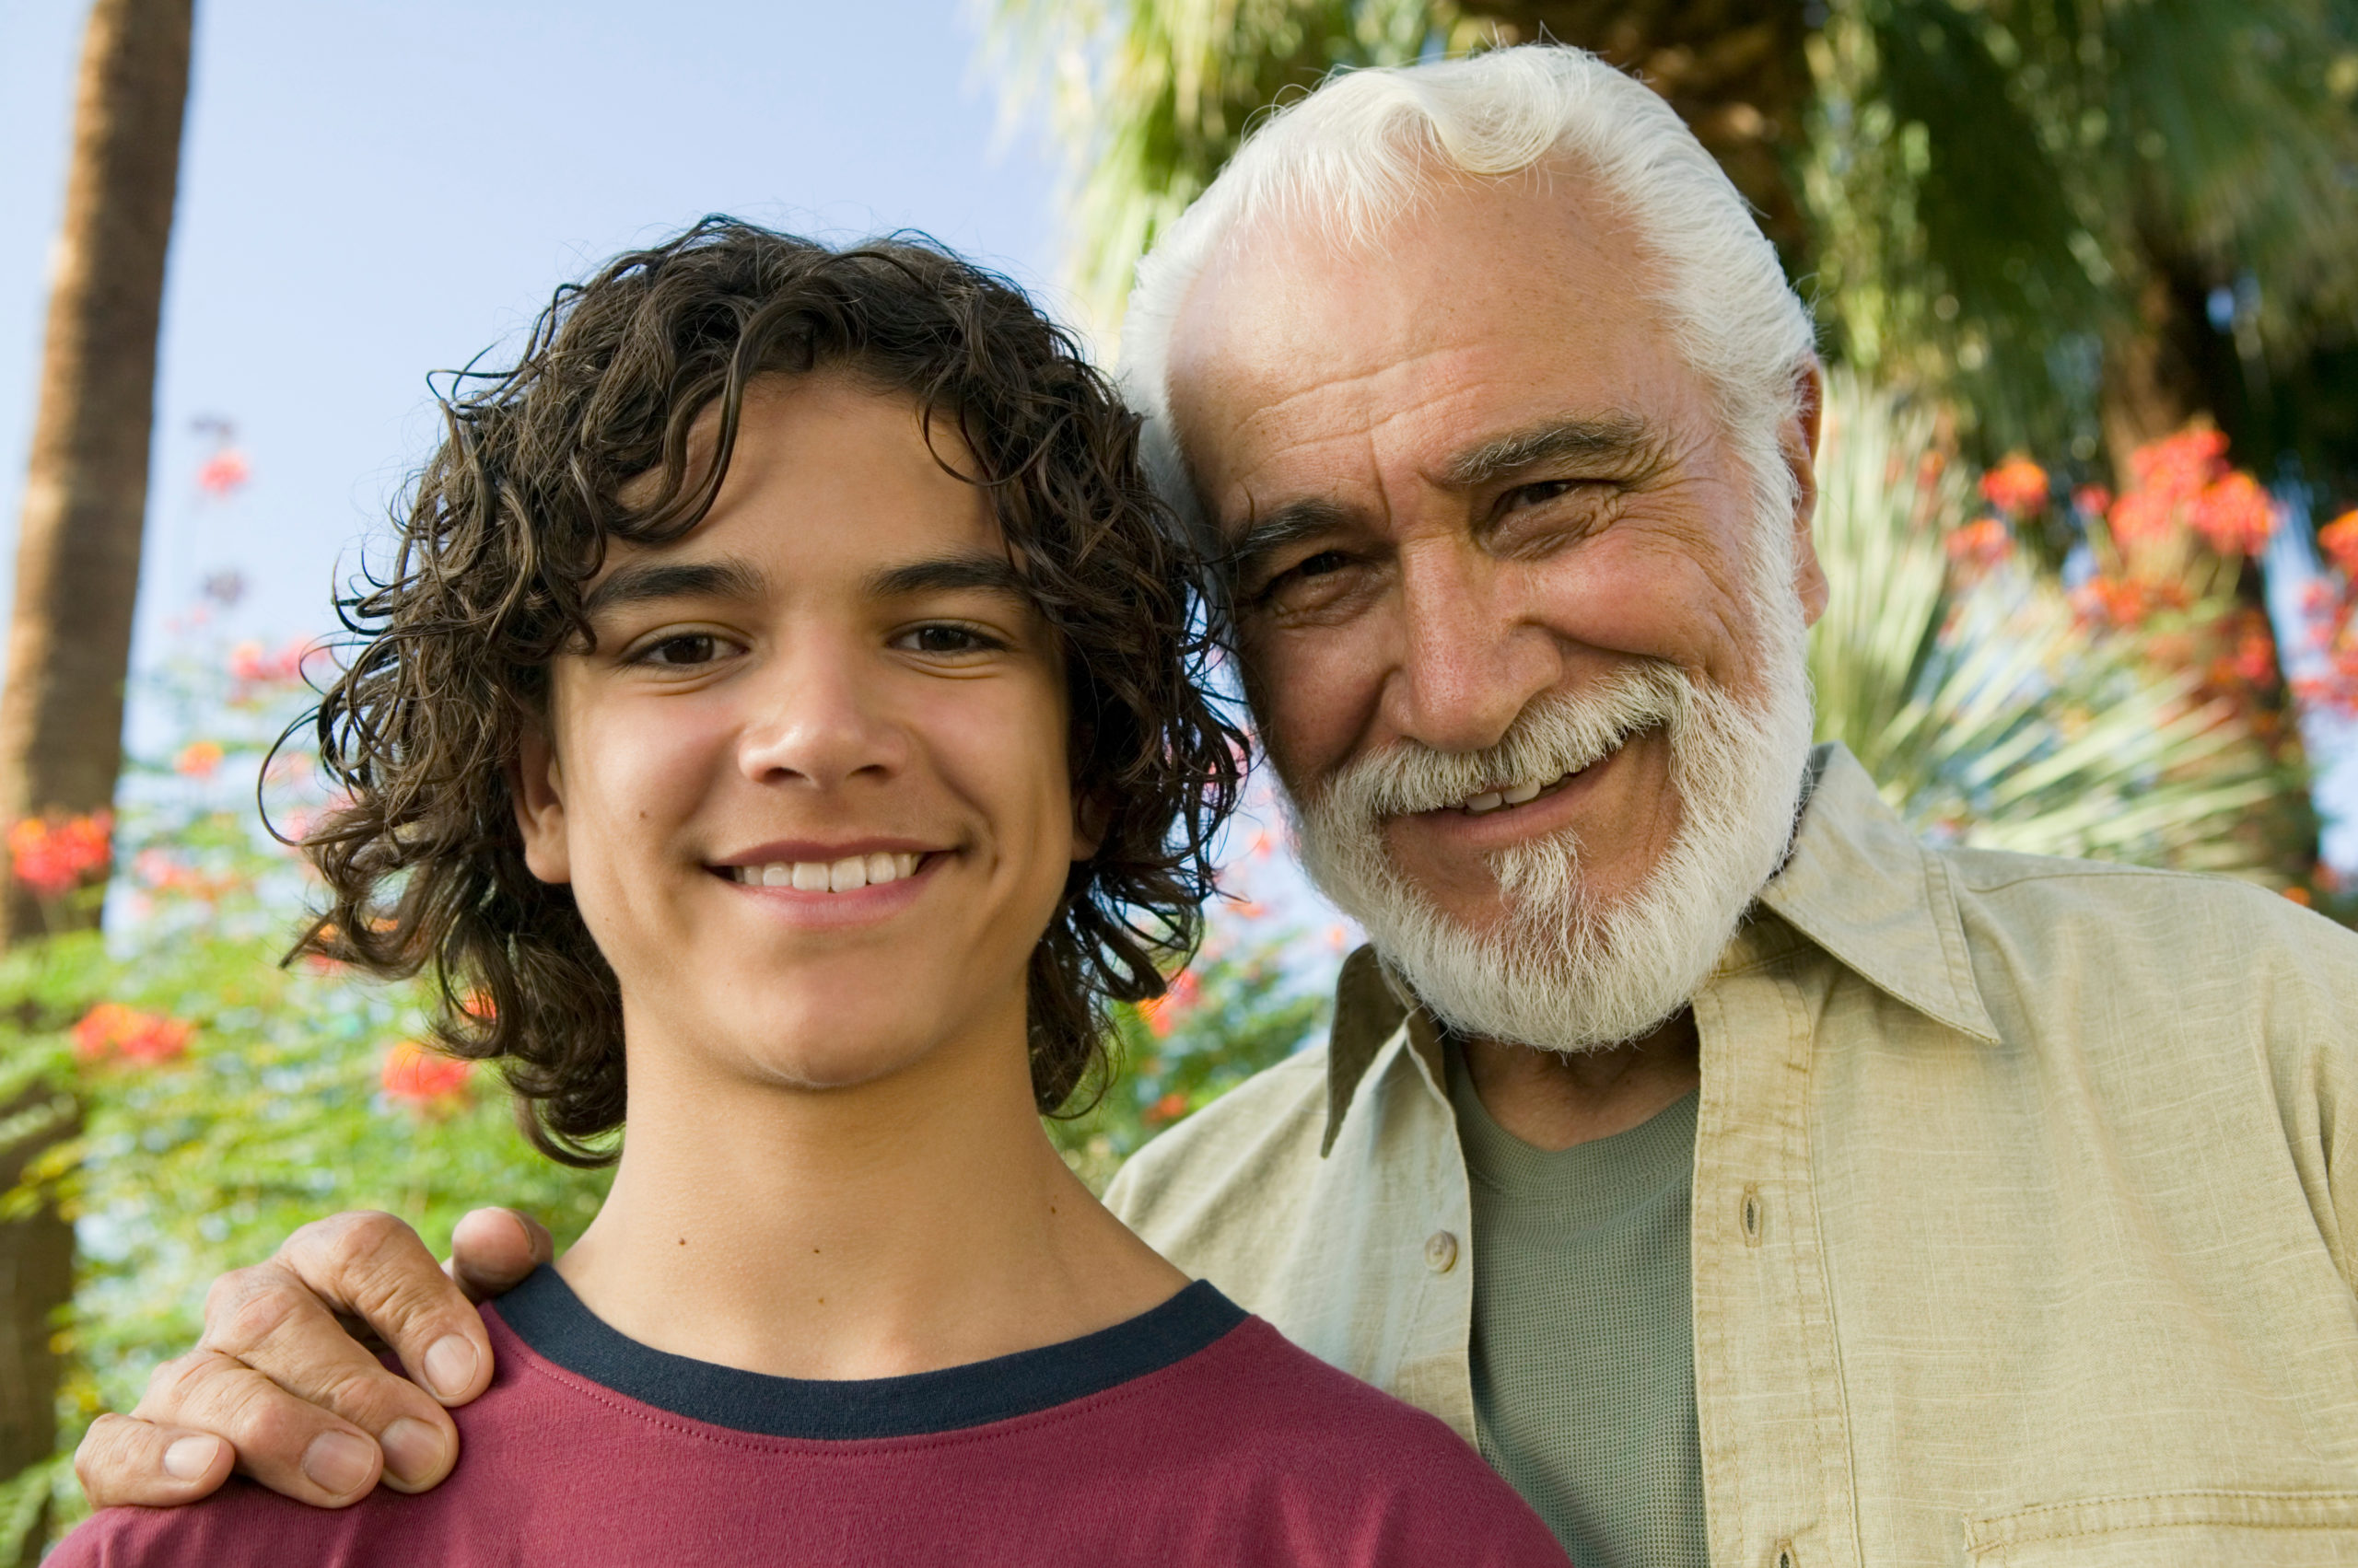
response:
<path id="1" fill-rule="evenodd" d="M 384 1481 L 401 1493 L 422 1493 L 457 1462 L 457 1424 L 408 1377 L 391 1372 L 328 1313 L 283 1264 L 238 1269 L 212 1283 L 205 1297 L 200 1349 L 250 1368 L 285 1394 L 318 1405 L 325 1415 L 373 1434 L 384 1450 Z M 182 1408 L 179 1396 L 149 1382 L 139 1415 L 222 1431 Z M 236 1434 L 224 1434 L 236 1436 Z M 309 1441 L 309 1434 L 297 1434 Z M 276 1469 L 302 1464 L 299 1450 L 250 1452 L 238 1443 L 241 1464 Z"/>

